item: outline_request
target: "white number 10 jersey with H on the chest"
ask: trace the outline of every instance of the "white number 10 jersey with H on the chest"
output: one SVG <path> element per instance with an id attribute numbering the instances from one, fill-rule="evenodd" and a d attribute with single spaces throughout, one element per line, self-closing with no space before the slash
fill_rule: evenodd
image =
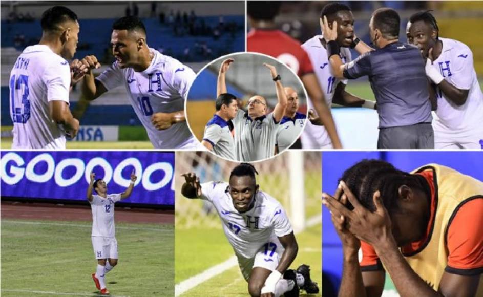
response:
<path id="1" fill-rule="evenodd" d="M 151 122 L 155 113 L 184 110 L 184 100 L 195 79 L 195 72 L 178 60 L 150 49 L 154 54 L 148 69 L 136 72 L 132 68 L 119 68 L 115 61 L 98 79 L 107 90 L 125 86 L 136 115 L 148 131 L 156 149 L 185 149 L 198 145 L 185 121 L 169 129 L 157 130 Z"/>

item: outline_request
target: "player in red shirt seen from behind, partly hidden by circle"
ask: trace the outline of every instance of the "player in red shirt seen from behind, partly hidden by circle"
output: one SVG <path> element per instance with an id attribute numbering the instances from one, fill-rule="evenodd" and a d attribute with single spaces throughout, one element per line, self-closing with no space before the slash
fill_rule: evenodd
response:
<path id="1" fill-rule="evenodd" d="M 317 81 L 317 76 L 313 73 L 312 63 L 307 53 L 298 40 L 276 28 L 275 17 L 279 13 L 280 6 L 280 1 L 247 2 L 251 30 L 246 36 L 246 48 L 249 52 L 263 53 L 280 59 L 297 73 L 310 97 L 307 103 L 309 108 L 310 104 L 313 105 L 313 109 L 320 116 L 333 148 L 341 149 L 341 141 L 337 135 L 332 114 L 325 104 L 324 93 Z M 314 149 L 319 148 L 314 147 Z"/>

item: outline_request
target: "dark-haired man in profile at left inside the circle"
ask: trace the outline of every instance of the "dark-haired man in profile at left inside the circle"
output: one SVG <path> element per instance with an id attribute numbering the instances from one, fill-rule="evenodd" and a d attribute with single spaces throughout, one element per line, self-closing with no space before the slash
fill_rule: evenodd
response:
<path id="1" fill-rule="evenodd" d="M 237 97 L 228 93 L 220 94 L 216 98 L 215 109 L 215 115 L 206 124 L 201 144 L 220 157 L 236 160 L 233 123 L 230 120 L 238 112 Z"/>

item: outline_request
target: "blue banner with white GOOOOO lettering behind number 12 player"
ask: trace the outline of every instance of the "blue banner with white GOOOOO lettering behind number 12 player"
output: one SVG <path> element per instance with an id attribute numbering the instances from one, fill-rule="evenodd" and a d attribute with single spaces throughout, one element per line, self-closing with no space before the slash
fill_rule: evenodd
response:
<path id="1" fill-rule="evenodd" d="M 86 200 L 91 172 L 122 193 L 133 170 L 122 202 L 174 205 L 172 152 L 2 152 L 2 196 Z"/>

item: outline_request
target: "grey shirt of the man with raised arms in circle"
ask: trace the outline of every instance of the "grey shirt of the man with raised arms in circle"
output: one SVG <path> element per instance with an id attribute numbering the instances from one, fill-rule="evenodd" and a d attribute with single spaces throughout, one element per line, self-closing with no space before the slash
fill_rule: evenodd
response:
<path id="1" fill-rule="evenodd" d="M 242 110 L 232 120 L 239 161 L 257 161 L 274 156 L 278 122 L 274 113 L 252 119 Z"/>

